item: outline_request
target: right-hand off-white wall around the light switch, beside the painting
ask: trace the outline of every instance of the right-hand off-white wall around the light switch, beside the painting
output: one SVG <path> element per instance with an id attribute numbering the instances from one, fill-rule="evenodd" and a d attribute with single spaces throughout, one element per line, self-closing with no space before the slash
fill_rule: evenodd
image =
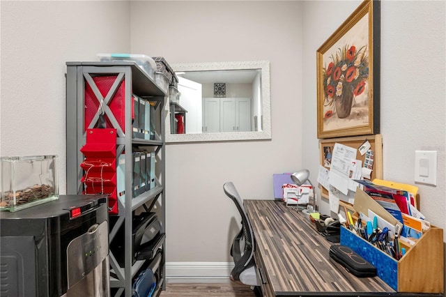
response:
<path id="1" fill-rule="evenodd" d="M 381 38 L 384 178 L 413 183 L 415 150 L 438 151 L 437 186 L 420 185 L 420 208 L 446 231 L 446 2 L 382 6 L 383 26 L 391 29 Z"/>

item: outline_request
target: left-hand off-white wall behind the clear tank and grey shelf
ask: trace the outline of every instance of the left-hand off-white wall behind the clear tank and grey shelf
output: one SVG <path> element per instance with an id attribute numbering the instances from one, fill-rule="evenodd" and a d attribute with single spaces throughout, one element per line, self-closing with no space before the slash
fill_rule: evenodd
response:
<path id="1" fill-rule="evenodd" d="M 1 155 L 59 155 L 66 193 L 66 61 L 130 49 L 128 1 L 1 1 Z"/>

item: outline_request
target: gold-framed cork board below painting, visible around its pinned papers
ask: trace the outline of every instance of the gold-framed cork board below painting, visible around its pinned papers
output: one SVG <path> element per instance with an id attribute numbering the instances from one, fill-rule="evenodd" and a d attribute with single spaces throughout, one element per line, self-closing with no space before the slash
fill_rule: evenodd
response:
<path id="1" fill-rule="evenodd" d="M 328 159 L 330 157 L 328 158 L 326 148 L 334 148 L 334 144 L 339 143 L 344 144 L 345 146 L 356 148 L 356 160 L 361 160 L 362 164 L 364 165 L 366 155 L 361 155 L 359 148 L 366 141 L 368 141 L 370 144 L 370 150 L 374 152 L 374 162 L 371 166 L 371 181 L 373 181 L 375 178 L 383 179 L 383 137 L 380 134 L 320 139 L 319 164 L 330 170 L 330 162 L 328 162 Z M 328 189 L 325 189 L 322 185 L 320 186 L 320 188 L 321 197 L 328 199 Z"/>

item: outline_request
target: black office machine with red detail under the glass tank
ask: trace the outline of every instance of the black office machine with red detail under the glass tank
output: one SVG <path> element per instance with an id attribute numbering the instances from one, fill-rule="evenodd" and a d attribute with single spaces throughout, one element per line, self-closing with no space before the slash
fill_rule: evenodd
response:
<path id="1" fill-rule="evenodd" d="M 0 296 L 109 296 L 107 195 L 0 213 Z"/>

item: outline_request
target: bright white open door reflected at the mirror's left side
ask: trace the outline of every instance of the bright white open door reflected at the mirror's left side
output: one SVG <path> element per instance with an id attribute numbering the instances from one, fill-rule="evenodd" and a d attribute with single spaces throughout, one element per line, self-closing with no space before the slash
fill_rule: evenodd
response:
<path id="1" fill-rule="evenodd" d="M 201 103 L 201 84 L 178 76 L 178 92 L 180 92 L 180 105 L 187 110 L 186 131 L 201 133 L 203 107 Z"/>

